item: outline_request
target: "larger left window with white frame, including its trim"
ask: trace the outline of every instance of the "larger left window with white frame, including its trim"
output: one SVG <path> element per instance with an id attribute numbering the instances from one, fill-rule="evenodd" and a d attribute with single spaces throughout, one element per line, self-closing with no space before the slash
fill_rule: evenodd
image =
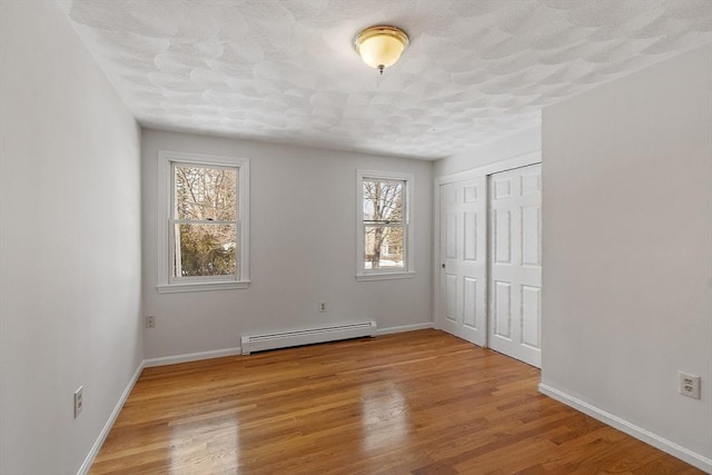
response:
<path id="1" fill-rule="evenodd" d="M 160 293 L 246 288 L 249 161 L 159 152 Z"/>

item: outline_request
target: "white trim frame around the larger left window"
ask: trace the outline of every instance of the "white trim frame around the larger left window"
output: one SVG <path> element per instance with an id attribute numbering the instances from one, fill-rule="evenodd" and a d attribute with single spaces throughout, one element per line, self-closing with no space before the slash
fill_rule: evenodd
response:
<path id="1" fill-rule="evenodd" d="M 171 164 L 191 164 L 239 168 L 238 172 L 238 221 L 239 221 L 239 275 L 201 277 L 196 280 L 171 281 L 171 248 L 169 220 L 171 219 Z M 158 285 L 159 294 L 182 291 L 225 290 L 247 288 L 249 280 L 249 160 L 237 157 L 158 151 Z"/>

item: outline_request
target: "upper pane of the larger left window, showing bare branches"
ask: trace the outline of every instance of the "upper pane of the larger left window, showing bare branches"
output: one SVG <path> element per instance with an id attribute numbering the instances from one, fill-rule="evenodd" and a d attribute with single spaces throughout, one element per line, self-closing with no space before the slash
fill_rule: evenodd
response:
<path id="1" fill-rule="evenodd" d="M 176 218 L 237 220 L 237 170 L 176 165 Z"/>

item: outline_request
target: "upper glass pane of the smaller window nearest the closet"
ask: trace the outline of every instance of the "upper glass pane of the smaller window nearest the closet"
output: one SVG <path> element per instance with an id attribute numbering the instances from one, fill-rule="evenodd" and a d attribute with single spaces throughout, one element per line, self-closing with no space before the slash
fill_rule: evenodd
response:
<path id="1" fill-rule="evenodd" d="M 364 222 L 402 224 L 405 181 L 364 179 Z"/>

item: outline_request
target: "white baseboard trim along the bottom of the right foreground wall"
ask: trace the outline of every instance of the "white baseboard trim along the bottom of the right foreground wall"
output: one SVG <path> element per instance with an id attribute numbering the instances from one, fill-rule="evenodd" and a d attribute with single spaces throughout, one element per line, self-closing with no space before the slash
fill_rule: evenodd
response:
<path id="1" fill-rule="evenodd" d="M 666 438 L 653 434 L 652 432 L 646 431 L 642 427 L 639 427 L 635 424 L 622 419 L 619 416 L 606 413 L 605 410 L 600 409 L 596 406 L 581 400 L 577 397 L 571 396 L 547 384 L 540 383 L 538 390 L 540 393 L 545 394 L 546 396 L 552 397 L 570 407 L 573 407 L 574 409 L 582 412 L 593 417 L 594 419 L 601 420 L 602 423 L 607 424 L 621 432 L 624 432 L 625 434 L 633 436 L 639 441 L 650 444 L 655 448 L 660 448 L 661 451 L 666 452 L 668 454 L 678 457 L 681 461 L 689 463 L 690 465 L 694 465 L 705 473 L 712 473 L 712 459 L 703 455 L 692 452 L 689 448 L 675 444 L 674 442 L 668 441 Z"/>

